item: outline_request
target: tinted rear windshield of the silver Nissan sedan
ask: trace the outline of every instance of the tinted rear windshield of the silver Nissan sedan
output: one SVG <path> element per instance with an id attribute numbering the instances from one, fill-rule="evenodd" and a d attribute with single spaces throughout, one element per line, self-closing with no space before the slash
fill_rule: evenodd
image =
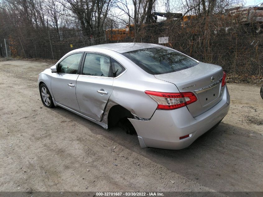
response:
<path id="1" fill-rule="evenodd" d="M 153 75 L 172 73 L 198 64 L 186 55 L 164 47 L 139 49 L 123 53 L 123 55 Z"/>

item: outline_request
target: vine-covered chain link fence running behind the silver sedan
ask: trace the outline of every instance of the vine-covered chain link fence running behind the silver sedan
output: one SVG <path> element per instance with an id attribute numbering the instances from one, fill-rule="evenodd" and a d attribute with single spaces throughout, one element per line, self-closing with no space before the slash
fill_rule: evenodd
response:
<path id="1" fill-rule="evenodd" d="M 83 35 L 82 30 L 49 29 L 39 34 L 31 34 L 28 37 L 10 36 L 7 41 L 8 55 L 41 58 L 60 59 L 71 50 L 116 42 L 145 42 L 158 44 L 161 37 L 167 37 L 167 47 L 176 49 L 199 61 L 217 64 L 228 73 L 240 75 L 263 75 L 263 34 L 254 34 L 244 29 L 232 31 L 221 29 L 187 28 L 181 29 L 167 23 L 160 26 L 143 26 L 137 33 L 137 39 L 131 36 L 116 35 L 118 30 L 110 30 L 110 36 L 105 30 L 94 35 Z M 115 31 L 115 32 L 114 32 Z M 114 36 L 113 36 L 114 34 Z M 2 47 L 3 56 L 5 56 Z"/>

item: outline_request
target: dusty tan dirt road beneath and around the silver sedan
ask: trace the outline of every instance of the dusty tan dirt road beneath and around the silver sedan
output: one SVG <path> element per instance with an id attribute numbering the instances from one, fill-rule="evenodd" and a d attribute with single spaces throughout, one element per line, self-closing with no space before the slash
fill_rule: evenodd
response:
<path id="1" fill-rule="evenodd" d="M 37 76 L 48 67 L 0 62 L 0 191 L 263 191 L 258 86 L 227 84 L 228 115 L 190 147 L 141 149 L 118 127 L 44 107 Z"/>

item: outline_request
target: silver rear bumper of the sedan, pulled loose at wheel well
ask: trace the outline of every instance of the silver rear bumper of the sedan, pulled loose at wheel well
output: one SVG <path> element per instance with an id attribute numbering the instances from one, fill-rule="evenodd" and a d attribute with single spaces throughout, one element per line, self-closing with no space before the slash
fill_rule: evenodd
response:
<path id="1" fill-rule="evenodd" d="M 142 148 L 182 149 L 207 132 L 227 115 L 230 97 L 227 87 L 223 99 L 203 114 L 193 117 L 187 107 L 156 110 L 151 120 L 129 119 L 137 131 Z M 179 139 L 190 134 L 188 138 Z"/>

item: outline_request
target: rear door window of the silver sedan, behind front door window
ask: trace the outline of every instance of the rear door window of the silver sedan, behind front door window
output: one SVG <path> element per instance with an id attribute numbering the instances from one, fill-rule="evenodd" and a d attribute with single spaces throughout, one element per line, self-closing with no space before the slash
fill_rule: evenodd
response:
<path id="1" fill-rule="evenodd" d="M 99 77 L 111 77 L 110 58 L 99 54 L 87 53 L 82 74 Z"/>

